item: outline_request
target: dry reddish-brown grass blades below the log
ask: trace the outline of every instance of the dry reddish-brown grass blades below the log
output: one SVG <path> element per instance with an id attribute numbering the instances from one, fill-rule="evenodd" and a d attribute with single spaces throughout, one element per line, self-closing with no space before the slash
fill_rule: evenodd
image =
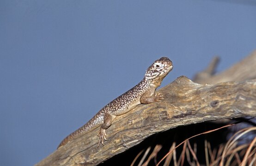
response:
<path id="1" fill-rule="evenodd" d="M 236 132 L 227 142 L 220 144 L 218 147 L 212 148 L 211 143 L 205 140 L 204 144 L 204 162 L 199 163 L 197 156 L 197 144 L 193 144 L 193 148 L 190 145 L 190 139 L 196 139 L 197 136 L 204 135 L 222 128 L 230 127 L 232 125 L 226 125 L 218 129 L 209 130 L 190 138 L 184 140 L 176 146 L 176 142 L 172 142 L 171 148 L 161 160 L 157 161 L 157 154 L 161 150 L 161 145 L 156 145 L 149 154 L 151 147 L 147 148 L 146 152 L 143 154 L 143 157 L 140 159 L 139 166 L 148 166 L 150 165 L 159 166 L 256 166 L 256 137 L 250 139 L 249 142 L 241 144 L 241 140 L 246 139 L 248 134 L 255 133 L 256 127 L 247 127 Z M 183 145 L 183 147 L 180 147 Z M 180 147 L 181 153 L 177 154 L 177 148 Z M 136 158 L 134 159 L 131 166 L 134 166 L 136 160 L 143 153 L 141 151 Z M 148 157 L 147 157 L 148 156 Z M 150 162 L 153 160 L 153 162 Z"/>

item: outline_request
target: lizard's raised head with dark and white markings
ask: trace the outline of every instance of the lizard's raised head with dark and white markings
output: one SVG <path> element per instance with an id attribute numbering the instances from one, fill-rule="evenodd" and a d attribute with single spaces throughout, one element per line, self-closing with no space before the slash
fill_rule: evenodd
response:
<path id="1" fill-rule="evenodd" d="M 165 76 L 172 70 L 172 62 L 169 58 L 162 57 L 148 67 L 145 79 L 154 87 L 160 86 Z"/>

